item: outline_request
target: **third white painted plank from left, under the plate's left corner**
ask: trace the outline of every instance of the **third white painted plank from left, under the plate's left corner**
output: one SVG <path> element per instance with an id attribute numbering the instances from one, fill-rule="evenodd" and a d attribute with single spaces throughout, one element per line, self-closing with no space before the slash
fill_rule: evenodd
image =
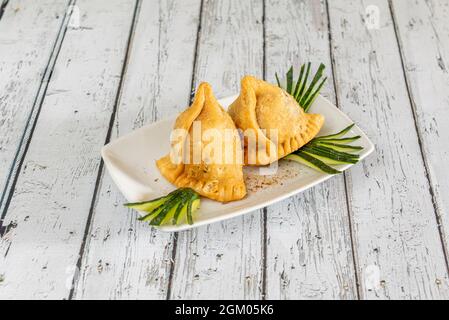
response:
<path id="1" fill-rule="evenodd" d="M 112 139 L 189 104 L 200 0 L 139 8 Z M 77 299 L 165 299 L 174 234 L 137 221 L 106 173 L 93 211 Z"/>

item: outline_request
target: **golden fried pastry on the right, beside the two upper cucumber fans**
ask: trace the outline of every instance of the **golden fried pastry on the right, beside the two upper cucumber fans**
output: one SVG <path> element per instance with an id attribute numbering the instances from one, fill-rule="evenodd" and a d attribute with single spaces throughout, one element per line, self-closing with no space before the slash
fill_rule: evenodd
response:
<path id="1" fill-rule="evenodd" d="M 324 124 L 322 115 L 305 113 L 287 92 L 252 76 L 242 79 L 240 96 L 229 107 L 229 114 L 237 128 L 244 132 L 251 129 L 262 144 L 256 151 L 245 139 L 245 164 L 248 165 L 267 165 L 298 150 Z M 276 130 L 277 135 L 272 136 L 270 130 Z M 270 152 L 274 148 L 277 155 Z M 253 153 L 255 163 L 250 161 L 254 160 Z"/>

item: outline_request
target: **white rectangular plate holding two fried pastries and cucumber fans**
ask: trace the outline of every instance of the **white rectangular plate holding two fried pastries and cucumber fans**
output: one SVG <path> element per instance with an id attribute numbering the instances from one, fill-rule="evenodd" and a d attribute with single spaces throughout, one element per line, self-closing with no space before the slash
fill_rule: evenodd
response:
<path id="1" fill-rule="evenodd" d="M 221 99 L 219 102 L 227 108 L 236 97 Z M 320 113 L 326 119 L 319 135 L 336 133 L 353 123 L 321 96 L 316 99 L 310 112 Z M 151 200 L 175 189 L 161 176 L 155 164 L 157 159 L 169 152 L 169 137 L 175 119 L 176 116 L 147 125 L 103 147 L 101 153 L 109 174 L 129 202 Z M 357 145 L 364 147 L 360 159 L 374 151 L 372 142 L 357 126 L 348 135 L 361 136 L 357 141 Z M 345 170 L 350 166 L 342 165 L 337 168 Z M 258 168 L 245 168 L 244 173 L 248 191 L 244 199 L 222 204 L 202 198 L 201 208 L 194 215 L 193 225 L 157 228 L 163 231 L 182 231 L 234 218 L 288 198 L 332 177 L 287 160 L 279 161 L 278 170 L 272 175 L 259 175 Z"/>

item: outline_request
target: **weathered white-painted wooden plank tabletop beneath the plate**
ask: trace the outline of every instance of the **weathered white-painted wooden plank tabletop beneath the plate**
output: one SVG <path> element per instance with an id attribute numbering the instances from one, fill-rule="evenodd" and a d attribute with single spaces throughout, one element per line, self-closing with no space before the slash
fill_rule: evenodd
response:
<path id="1" fill-rule="evenodd" d="M 0 298 L 449 298 L 448 0 L 0 0 Z M 253 214 L 136 220 L 100 149 L 323 62 L 376 153 Z"/>

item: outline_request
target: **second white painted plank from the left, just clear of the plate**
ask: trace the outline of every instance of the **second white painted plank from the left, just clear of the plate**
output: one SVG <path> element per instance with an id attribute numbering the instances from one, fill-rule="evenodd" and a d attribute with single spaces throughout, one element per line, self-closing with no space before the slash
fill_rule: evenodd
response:
<path id="1" fill-rule="evenodd" d="M 114 107 L 134 1 L 80 0 L 6 215 L 1 298 L 67 298 Z"/>

